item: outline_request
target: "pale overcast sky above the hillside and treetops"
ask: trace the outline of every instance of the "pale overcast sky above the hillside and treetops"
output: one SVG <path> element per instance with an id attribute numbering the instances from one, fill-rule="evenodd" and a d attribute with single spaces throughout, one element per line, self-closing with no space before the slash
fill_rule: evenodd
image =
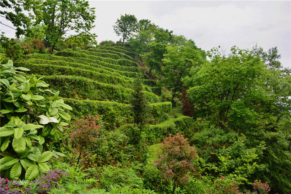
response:
<path id="1" fill-rule="evenodd" d="M 267 51 L 278 47 L 280 61 L 291 67 L 291 1 L 89 1 L 95 7 L 92 32 L 97 41 L 117 41 L 112 25 L 120 15 L 133 14 L 138 20 L 149 19 L 174 34 L 195 41 L 203 50 L 222 46 Z M 1 21 L 4 23 L 3 19 Z M 5 23 L 8 24 L 8 23 Z M 14 31 L 1 25 L 6 36 Z"/>

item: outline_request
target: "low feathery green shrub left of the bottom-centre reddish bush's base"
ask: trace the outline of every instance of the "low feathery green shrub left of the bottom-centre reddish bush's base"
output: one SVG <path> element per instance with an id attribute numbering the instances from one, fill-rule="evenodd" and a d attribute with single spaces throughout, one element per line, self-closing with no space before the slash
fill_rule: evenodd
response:
<path id="1" fill-rule="evenodd" d="M 130 188 L 143 187 L 142 179 L 136 175 L 132 168 L 105 166 L 103 167 L 100 186 L 101 188 L 108 189 L 110 184 Z"/>

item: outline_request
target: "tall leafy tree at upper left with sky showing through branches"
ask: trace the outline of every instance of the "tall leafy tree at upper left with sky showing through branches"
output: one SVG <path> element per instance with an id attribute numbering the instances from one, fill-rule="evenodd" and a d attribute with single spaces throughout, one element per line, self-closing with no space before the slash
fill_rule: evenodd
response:
<path id="1" fill-rule="evenodd" d="M 79 38 L 83 43 L 94 40 L 96 35 L 90 33 L 95 27 L 95 8 L 90 8 L 85 0 L 44 1 L 40 6 L 36 23 L 43 22 L 46 28 L 47 46 L 54 50 L 56 44 Z"/>

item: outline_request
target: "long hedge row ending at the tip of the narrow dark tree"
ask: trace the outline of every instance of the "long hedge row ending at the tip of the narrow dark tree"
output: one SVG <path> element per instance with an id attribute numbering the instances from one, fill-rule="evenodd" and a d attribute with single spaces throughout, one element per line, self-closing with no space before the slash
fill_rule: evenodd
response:
<path id="1" fill-rule="evenodd" d="M 86 70 L 82 68 L 49 65 L 49 64 L 30 64 L 22 63 L 15 66 L 22 66 L 31 70 L 31 73 L 39 75 L 75 75 L 85 77 L 102 83 L 122 85 L 131 88 L 133 80 L 130 78 L 125 79 L 124 76 L 114 76 L 105 73 L 98 73 L 96 71 Z"/>

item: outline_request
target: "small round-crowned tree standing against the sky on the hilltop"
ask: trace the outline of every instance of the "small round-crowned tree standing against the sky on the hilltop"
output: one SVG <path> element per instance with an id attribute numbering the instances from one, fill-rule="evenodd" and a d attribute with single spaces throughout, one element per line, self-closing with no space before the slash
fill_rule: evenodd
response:
<path id="1" fill-rule="evenodd" d="M 137 31 L 137 19 L 134 15 L 121 15 L 113 25 L 114 32 L 117 36 L 122 36 L 122 46 L 125 40 L 129 40 L 132 33 Z"/>

